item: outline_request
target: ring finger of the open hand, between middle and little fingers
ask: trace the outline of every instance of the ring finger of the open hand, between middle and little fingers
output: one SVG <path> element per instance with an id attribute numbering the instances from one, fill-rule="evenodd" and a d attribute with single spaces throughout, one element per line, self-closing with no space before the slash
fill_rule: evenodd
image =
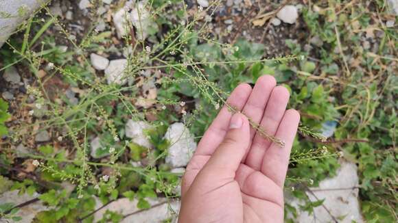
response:
<path id="1" fill-rule="evenodd" d="M 264 116 L 260 122 L 261 127 L 269 135 L 274 135 L 277 132 L 279 122 L 282 120 L 286 105 L 288 105 L 288 101 L 288 89 L 283 86 L 277 86 L 272 90 L 270 99 L 267 103 L 266 112 L 264 112 Z M 271 142 L 263 135 L 256 133 L 246 157 L 246 165 L 255 170 L 260 170 L 264 153 L 266 153 L 266 149 L 270 146 L 270 144 Z"/>

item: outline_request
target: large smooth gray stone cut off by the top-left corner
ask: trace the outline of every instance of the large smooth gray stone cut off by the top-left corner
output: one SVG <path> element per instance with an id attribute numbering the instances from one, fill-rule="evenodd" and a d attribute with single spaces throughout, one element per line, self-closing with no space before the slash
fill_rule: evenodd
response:
<path id="1" fill-rule="evenodd" d="M 0 47 L 25 18 L 31 16 L 47 0 L 0 0 Z"/>

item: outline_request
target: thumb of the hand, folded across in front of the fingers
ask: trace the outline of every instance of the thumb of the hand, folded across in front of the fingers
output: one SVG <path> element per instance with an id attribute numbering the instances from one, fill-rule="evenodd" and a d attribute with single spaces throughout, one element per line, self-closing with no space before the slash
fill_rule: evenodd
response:
<path id="1" fill-rule="evenodd" d="M 226 170 L 233 172 L 239 167 L 250 142 L 250 126 L 248 119 L 241 113 L 232 116 L 229 130 L 224 141 L 218 146 L 204 166 L 209 170 Z"/>

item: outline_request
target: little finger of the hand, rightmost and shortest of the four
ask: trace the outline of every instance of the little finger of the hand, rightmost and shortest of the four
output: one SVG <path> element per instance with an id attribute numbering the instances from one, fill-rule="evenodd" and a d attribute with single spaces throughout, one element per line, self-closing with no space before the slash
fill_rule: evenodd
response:
<path id="1" fill-rule="evenodd" d="M 280 187 L 283 187 L 286 172 L 288 171 L 290 150 L 292 150 L 299 121 L 299 112 L 294 109 L 286 111 L 276 135 L 276 137 L 285 142 L 285 146 L 281 148 L 277 144 L 272 144 L 264 155 L 261 172 Z"/>

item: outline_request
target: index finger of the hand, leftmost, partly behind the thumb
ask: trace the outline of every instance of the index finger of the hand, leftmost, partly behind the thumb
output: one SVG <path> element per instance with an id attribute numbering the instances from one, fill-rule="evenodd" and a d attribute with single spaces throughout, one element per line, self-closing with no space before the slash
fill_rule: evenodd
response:
<path id="1" fill-rule="evenodd" d="M 251 90 L 252 88 L 247 83 L 242 83 L 233 90 L 226 102 L 240 112 L 246 104 Z M 204 133 L 202 140 L 200 140 L 198 144 L 195 155 L 213 154 L 215 148 L 224 140 L 231 116 L 232 114 L 228 111 L 228 107 L 224 105 L 218 113 L 218 116 L 211 123 L 209 129 Z"/>

